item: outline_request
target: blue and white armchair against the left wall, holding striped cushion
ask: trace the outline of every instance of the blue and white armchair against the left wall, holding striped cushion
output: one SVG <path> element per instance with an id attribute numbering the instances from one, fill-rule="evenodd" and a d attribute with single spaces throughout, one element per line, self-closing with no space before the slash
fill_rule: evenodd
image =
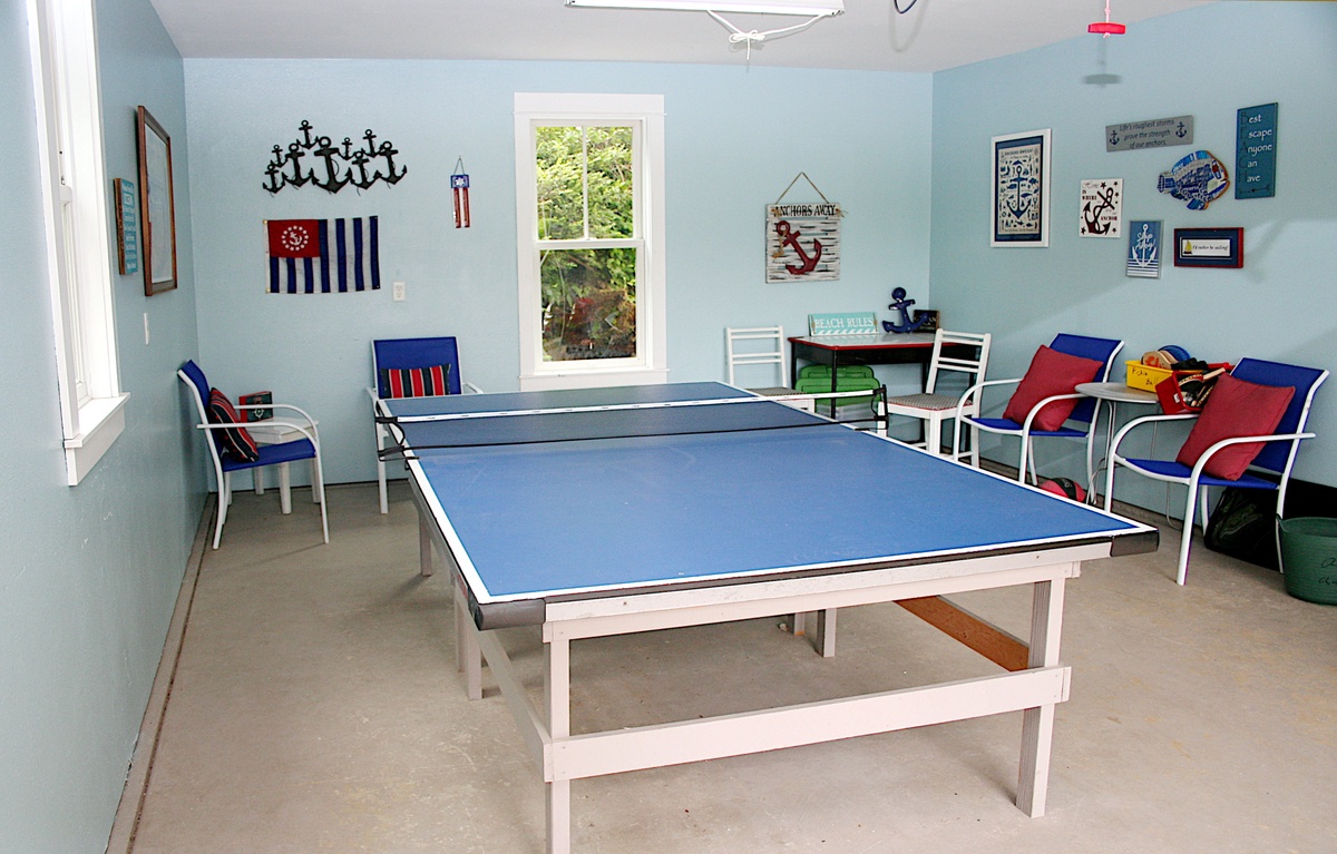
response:
<path id="1" fill-rule="evenodd" d="M 218 389 L 209 385 L 205 372 L 194 361 L 187 361 L 176 372 L 190 397 L 195 401 L 199 422 L 205 432 L 205 445 L 214 461 L 214 478 L 218 481 L 218 520 L 214 525 L 214 548 L 223 536 L 223 523 L 227 521 L 227 508 L 233 503 L 233 472 L 258 470 L 267 465 L 279 466 L 279 497 L 283 513 L 293 512 L 291 490 L 287 480 L 287 464 L 298 460 L 312 461 L 312 500 L 321 507 L 321 531 L 325 543 L 330 541 L 329 519 L 325 512 L 325 480 L 321 470 L 321 440 L 316 430 L 316 420 L 305 410 L 291 404 L 261 404 L 255 406 L 234 406 Z M 294 413 L 294 417 L 274 418 L 266 424 L 282 425 L 286 432 L 301 434 L 286 442 L 257 445 L 243 426 L 238 409 L 273 409 Z"/>

